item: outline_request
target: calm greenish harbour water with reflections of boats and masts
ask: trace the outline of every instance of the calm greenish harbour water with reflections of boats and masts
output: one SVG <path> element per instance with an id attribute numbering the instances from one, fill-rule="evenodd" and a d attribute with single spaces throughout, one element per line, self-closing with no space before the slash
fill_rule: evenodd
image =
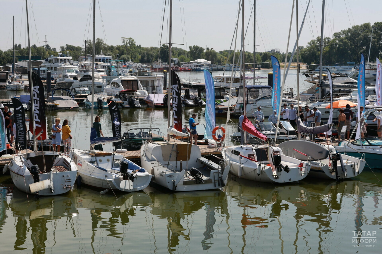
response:
<path id="1" fill-rule="evenodd" d="M 293 85 L 296 75 L 289 78 Z M 14 93 L 0 91 L 0 96 Z M 196 112 L 196 121 L 204 123 L 203 111 L 185 109 L 185 118 Z M 97 114 L 104 134 L 111 135 L 108 110 Z M 162 109 L 121 109 L 121 116 L 122 131 L 167 126 Z M 90 110 L 47 111 L 49 127 L 54 117 L 69 120 L 75 148 L 89 148 Z M 217 123 L 225 124 L 225 118 Z M 74 186 L 67 195 L 39 199 L 15 189 L 11 196 L 0 194 L 0 246 L 2 253 L 28 254 L 380 253 L 381 177 L 380 171 L 364 170 L 339 183 L 306 178 L 277 186 L 230 178 L 217 191 L 148 187 L 117 196 Z M 10 176 L 1 176 L 0 183 L 13 186 Z M 353 231 L 365 236 L 375 231 L 376 238 L 354 238 Z M 353 243 L 366 239 L 376 242 Z"/>

